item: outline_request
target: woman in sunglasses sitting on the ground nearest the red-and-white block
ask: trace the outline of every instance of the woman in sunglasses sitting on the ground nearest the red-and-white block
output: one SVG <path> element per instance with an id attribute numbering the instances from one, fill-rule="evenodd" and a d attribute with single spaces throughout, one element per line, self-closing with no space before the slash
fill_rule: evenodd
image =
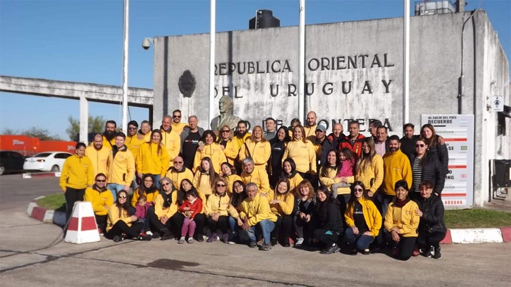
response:
<path id="1" fill-rule="evenodd" d="M 122 189 L 117 193 L 117 201 L 108 209 L 108 218 L 106 220 L 107 238 L 114 242 L 120 242 L 125 238 L 135 238 L 136 240 L 151 240 L 151 235 L 141 235 L 140 232 L 144 223 L 136 222 L 136 216 L 130 216 L 128 213 L 128 192 Z"/>

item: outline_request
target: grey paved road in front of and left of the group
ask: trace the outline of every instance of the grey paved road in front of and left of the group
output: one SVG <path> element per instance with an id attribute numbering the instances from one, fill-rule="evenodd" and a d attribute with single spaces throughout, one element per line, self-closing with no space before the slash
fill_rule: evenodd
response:
<path id="1" fill-rule="evenodd" d="M 443 246 L 443 258 L 268 252 L 220 242 L 63 243 L 61 230 L 28 218 L 31 197 L 57 179 L 0 177 L 2 286 L 509 286 L 511 244 Z M 23 202 L 27 200 L 27 202 Z"/>

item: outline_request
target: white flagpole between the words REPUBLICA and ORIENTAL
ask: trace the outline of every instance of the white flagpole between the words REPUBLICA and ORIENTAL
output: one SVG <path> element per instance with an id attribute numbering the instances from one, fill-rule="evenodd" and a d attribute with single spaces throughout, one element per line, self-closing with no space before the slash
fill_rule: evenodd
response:
<path id="1" fill-rule="evenodd" d="M 305 123 L 305 0 L 300 0 L 300 26 L 299 26 L 299 52 L 298 52 L 298 118 Z"/>

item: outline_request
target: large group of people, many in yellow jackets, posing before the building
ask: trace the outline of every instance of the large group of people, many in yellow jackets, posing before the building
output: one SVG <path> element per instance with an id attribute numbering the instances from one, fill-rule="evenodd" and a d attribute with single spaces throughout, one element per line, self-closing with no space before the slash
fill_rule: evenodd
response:
<path id="1" fill-rule="evenodd" d="M 401 260 L 440 258 L 449 156 L 434 127 L 414 135 L 406 124 L 400 138 L 373 121 L 366 137 L 357 121 L 344 135 L 341 124 L 327 134 L 316 119 L 311 111 L 305 126 L 293 119 L 277 127 L 268 117 L 252 133 L 245 121 L 218 131 L 194 115 L 181 123 L 179 110 L 154 130 L 131 121 L 125 134 L 108 121 L 63 165 L 67 219 L 85 200 L 115 242 L 294 244 L 353 255 L 389 248 Z"/>

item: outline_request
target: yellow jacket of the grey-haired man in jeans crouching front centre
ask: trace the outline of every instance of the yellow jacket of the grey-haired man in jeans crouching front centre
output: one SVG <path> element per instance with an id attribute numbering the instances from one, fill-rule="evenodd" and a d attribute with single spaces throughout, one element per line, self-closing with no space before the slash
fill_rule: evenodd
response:
<path id="1" fill-rule="evenodd" d="M 277 221 L 277 217 L 270 210 L 268 198 L 259 193 L 255 195 L 254 199 L 245 199 L 240 205 L 240 210 L 240 218 L 247 217 L 249 226 L 254 226 L 265 219 L 272 222 Z"/>

